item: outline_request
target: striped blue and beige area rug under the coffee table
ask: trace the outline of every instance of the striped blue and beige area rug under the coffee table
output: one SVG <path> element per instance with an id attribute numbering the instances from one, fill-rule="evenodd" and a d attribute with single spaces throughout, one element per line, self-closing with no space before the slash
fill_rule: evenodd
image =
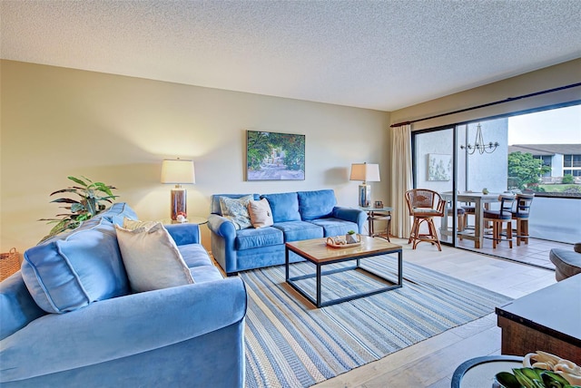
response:
<path id="1" fill-rule="evenodd" d="M 386 256 L 362 263 L 395 279 L 396 261 Z M 291 276 L 313 272 L 308 263 L 291 266 Z M 403 274 L 401 288 L 315 308 L 285 283 L 284 266 L 241 273 L 249 296 L 246 386 L 308 387 L 490 314 L 511 300 L 410 263 L 404 262 Z M 301 287 L 310 287 L 314 295 L 314 280 L 305 282 Z M 323 276 L 323 300 L 377 287 L 377 282 L 359 271 Z"/>

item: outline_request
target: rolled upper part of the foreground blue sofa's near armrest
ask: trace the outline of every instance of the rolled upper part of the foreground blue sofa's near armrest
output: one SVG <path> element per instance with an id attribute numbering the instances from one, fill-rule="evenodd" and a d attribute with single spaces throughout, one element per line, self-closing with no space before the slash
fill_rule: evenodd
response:
<path id="1" fill-rule="evenodd" d="M 0 383 L 178 344 L 241 322 L 246 303 L 241 278 L 229 277 L 44 315 L 0 341 Z"/>

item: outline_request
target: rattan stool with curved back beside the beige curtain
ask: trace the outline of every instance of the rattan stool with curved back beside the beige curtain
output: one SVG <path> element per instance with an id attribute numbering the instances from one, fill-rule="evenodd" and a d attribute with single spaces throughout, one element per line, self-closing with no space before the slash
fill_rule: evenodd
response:
<path id="1" fill-rule="evenodd" d="M 434 190 L 411 189 L 406 191 L 406 203 L 408 204 L 409 216 L 414 218 L 408 244 L 413 242 L 412 249 L 415 249 L 420 242 L 424 241 L 436 245 L 441 251 L 442 247 L 439 244 L 438 231 L 433 218 L 444 217 L 446 201 Z M 422 222 L 426 222 L 428 225 L 428 233 L 419 232 Z"/>

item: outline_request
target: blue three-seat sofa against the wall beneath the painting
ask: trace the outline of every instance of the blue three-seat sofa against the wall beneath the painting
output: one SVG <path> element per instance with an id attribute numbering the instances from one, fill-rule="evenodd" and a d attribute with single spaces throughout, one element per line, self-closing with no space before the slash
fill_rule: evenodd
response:
<path id="1" fill-rule="evenodd" d="M 220 197 L 240 199 L 248 195 L 212 195 L 208 218 L 212 256 L 229 276 L 252 268 L 284 264 L 285 242 L 340 236 L 349 230 L 361 233 L 367 221 L 364 211 L 338 207 L 335 192 L 324 189 L 252 194 L 255 200 L 269 201 L 274 225 L 236 229 L 228 218 L 222 217 Z M 299 259 L 291 257 L 291 261 Z"/>

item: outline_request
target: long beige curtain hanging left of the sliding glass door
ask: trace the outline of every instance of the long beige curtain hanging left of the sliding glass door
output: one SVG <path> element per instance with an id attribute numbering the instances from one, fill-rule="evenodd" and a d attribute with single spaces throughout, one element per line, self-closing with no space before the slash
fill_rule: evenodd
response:
<path id="1" fill-rule="evenodd" d="M 398 238 L 409 238 L 411 221 L 405 194 L 413 185 L 411 125 L 392 128 L 391 144 L 391 233 Z"/>

